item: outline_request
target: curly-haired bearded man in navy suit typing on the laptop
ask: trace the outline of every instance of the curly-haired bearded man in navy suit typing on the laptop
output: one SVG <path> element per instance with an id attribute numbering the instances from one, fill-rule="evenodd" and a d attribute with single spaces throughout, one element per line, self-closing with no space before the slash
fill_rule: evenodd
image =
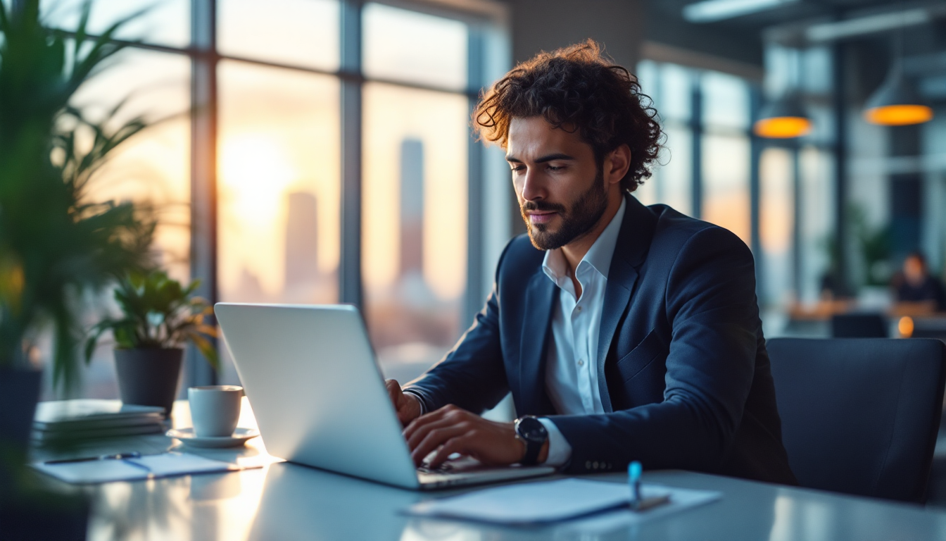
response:
<path id="1" fill-rule="evenodd" d="M 629 193 L 659 150 L 645 99 L 591 41 L 519 64 L 481 99 L 475 125 L 506 150 L 529 235 L 447 357 L 403 390 L 387 382 L 417 464 L 640 460 L 795 483 L 752 254 Z M 477 415 L 509 391 L 516 424 Z"/>

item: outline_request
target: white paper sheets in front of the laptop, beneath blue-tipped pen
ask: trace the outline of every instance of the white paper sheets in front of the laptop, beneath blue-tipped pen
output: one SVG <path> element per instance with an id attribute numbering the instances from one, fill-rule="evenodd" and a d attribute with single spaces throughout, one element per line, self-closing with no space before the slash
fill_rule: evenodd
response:
<path id="1" fill-rule="evenodd" d="M 643 484 L 643 497 L 670 495 L 670 503 L 626 514 L 639 520 L 674 514 L 709 503 L 721 493 Z M 407 514 L 461 518 L 500 524 L 539 524 L 568 520 L 607 509 L 620 509 L 630 500 L 626 484 L 588 479 L 558 479 L 484 489 L 414 504 Z"/>

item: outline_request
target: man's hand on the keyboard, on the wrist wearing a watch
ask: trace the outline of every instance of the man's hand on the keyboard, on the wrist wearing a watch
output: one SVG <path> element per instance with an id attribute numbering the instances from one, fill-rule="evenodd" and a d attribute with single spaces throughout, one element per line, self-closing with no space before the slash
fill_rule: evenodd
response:
<path id="1" fill-rule="evenodd" d="M 522 460 L 526 445 L 516 439 L 512 423 L 487 421 L 457 406 L 444 406 L 423 415 L 404 429 L 404 439 L 411 448 L 411 458 L 419 466 L 431 451 L 437 453 L 429 467 L 436 468 L 453 453 L 472 457 L 484 464 L 508 465 Z M 549 454 L 549 443 L 542 447 L 538 461 Z"/>

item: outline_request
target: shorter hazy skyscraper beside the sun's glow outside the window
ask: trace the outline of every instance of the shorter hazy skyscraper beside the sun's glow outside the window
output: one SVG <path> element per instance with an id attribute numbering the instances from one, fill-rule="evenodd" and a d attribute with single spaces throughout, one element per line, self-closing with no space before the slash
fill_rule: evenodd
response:
<path id="1" fill-rule="evenodd" d="M 286 285 L 311 284 L 318 280 L 318 220 L 315 195 L 289 193 L 286 218 Z"/>

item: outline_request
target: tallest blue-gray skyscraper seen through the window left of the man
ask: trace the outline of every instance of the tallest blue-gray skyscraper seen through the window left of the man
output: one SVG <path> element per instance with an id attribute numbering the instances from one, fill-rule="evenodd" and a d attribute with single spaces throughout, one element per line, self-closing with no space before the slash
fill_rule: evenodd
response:
<path id="1" fill-rule="evenodd" d="M 401 278 L 424 273 L 424 143 L 401 141 Z"/>

